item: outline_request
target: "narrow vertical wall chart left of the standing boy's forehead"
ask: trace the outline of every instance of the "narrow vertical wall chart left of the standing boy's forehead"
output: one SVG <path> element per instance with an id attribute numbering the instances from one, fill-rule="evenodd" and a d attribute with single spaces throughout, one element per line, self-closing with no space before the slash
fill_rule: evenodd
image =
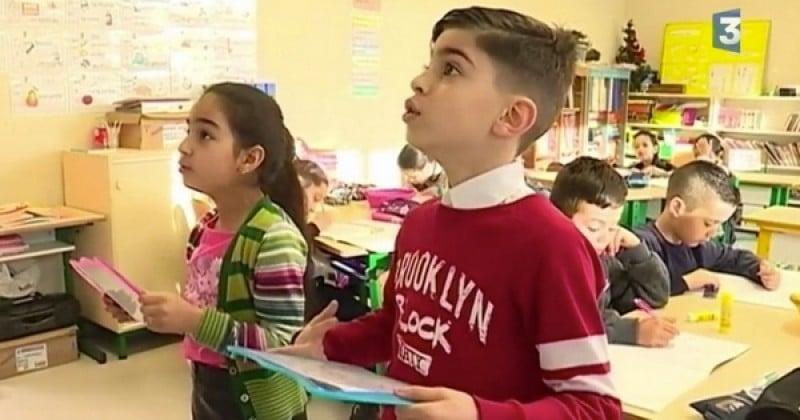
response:
<path id="1" fill-rule="evenodd" d="M 353 0 L 353 86 L 354 97 L 376 97 L 380 76 L 381 0 Z"/>

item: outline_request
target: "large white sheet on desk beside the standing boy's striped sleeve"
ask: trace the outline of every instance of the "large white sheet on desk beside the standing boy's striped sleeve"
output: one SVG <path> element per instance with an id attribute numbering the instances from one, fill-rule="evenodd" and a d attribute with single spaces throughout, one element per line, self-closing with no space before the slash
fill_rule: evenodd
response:
<path id="1" fill-rule="evenodd" d="M 612 344 L 611 375 L 623 403 L 658 412 L 749 348 L 685 332 L 665 348 Z"/>

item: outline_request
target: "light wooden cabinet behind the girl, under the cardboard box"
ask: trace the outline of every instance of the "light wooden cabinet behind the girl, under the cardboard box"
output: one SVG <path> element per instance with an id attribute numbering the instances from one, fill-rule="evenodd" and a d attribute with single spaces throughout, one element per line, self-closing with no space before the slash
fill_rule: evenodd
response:
<path id="1" fill-rule="evenodd" d="M 63 169 L 66 205 L 105 216 L 78 236 L 78 255 L 103 259 L 142 289 L 175 291 L 184 281 L 186 239 L 194 223 L 177 152 L 66 152 Z M 86 319 L 115 332 L 141 327 L 119 325 L 93 289 L 76 283 Z"/>

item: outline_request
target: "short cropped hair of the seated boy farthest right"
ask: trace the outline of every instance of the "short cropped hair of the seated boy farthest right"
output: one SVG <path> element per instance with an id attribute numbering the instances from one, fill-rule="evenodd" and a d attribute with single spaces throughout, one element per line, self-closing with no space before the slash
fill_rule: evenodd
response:
<path id="1" fill-rule="evenodd" d="M 713 197 L 711 194 L 734 206 L 740 201 L 731 176 L 713 162 L 689 162 L 673 171 L 667 181 L 667 200 L 680 197 L 690 210 Z"/>

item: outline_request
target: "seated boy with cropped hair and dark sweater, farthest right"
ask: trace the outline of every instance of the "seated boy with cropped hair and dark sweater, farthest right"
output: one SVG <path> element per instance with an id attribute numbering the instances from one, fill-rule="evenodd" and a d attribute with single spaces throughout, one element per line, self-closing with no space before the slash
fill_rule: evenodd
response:
<path id="1" fill-rule="evenodd" d="M 711 242 L 736 210 L 737 196 L 726 171 L 696 160 L 669 177 L 664 210 L 653 223 L 637 230 L 642 242 L 667 265 L 670 294 L 718 287 L 712 276 L 686 274 L 699 268 L 744 276 L 767 289 L 780 284 L 780 271 L 751 251 Z"/>

